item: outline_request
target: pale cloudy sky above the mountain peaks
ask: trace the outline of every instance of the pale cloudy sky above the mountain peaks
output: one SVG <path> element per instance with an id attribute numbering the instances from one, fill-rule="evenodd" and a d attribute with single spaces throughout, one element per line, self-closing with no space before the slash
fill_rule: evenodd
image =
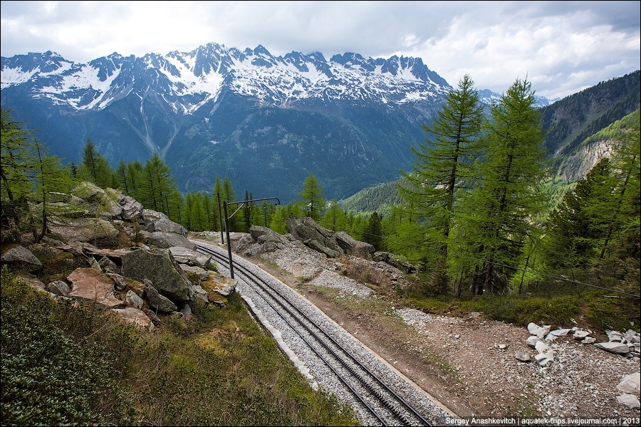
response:
<path id="1" fill-rule="evenodd" d="M 640 68 L 640 1 L 2 1 L 1 56 L 189 52 L 415 56 L 451 85 L 469 73 L 565 97 Z"/>

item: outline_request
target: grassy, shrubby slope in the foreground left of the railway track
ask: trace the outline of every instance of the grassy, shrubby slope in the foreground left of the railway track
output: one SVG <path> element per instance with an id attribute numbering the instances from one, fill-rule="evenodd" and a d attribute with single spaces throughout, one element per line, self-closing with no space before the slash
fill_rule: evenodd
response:
<path id="1" fill-rule="evenodd" d="M 4 270 L 1 307 L 2 425 L 358 424 L 313 391 L 236 292 L 148 333 Z"/>

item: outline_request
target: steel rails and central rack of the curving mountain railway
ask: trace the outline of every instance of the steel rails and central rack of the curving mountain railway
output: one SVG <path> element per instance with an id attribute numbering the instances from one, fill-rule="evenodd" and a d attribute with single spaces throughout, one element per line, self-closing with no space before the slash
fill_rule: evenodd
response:
<path id="1" fill-rule="evenodd" d="M 218 252 L 221 250 L 217 248 L 209 248 L 196 243 L 196 250 L 207 255 L 212 255 L 221 265 L 224 265 L 224 263 L 228 261 L 225 255 Z M 234 268 L 248 285 L 251 285 L 256 292 L 259 292 L 264 297 L 264 300 L 273 308 L 274 312 L 278 313 L 283 321 L 306 342 L 308 347 L 323 360 L 323 363 L 333 371 L 353 396 L 355 396 L 355 398 L 367 408 L 367 411 L 377 418 L 383 426 L 388 426 L 390 423 L 391 425 L 401 424 L 404 426 L 432 426 L 432 423 L 427 421 L 427 419 L 418 413 L 405 399 L 402 399 L 390 386 L 387 386 L 385 381 L 380 379 L 379 376 L 370 371 L 368 367 L 365 367 L 362 362 L 350 354 L 348 349 L 345 349 L 345 347 L 336 342 L 333 337 L 291 302 L 288 297 L 273 288 L 272 285 L 249 270 L 249 268 L 246 268 L 245 265 L 237 259 L 234 260 Z M 290 318 L 283 315 L 283 311 L 287 312 Z M 298 325 L 293 325 L 293 322 L 297 322 Z M 301 332 L 301 327 L 307 331 L 309 334 L 308 337 Z M 322 354 L 319 351 L 319 346 L 323 347 L 325 352 L 331 354 L 335 362 L 329 360 L 332 359 L 332 357 L 328 357 L 328 354 Z M 341 374 L 340 369 L 347 369 L 351 376 Z M 358 379 L 361 385 L 355 386 L 353 384 L 354 379 Z M 357 389 L 360 389 L 360 391 Z M 368 401 L 377 402 L 377 405 L 385 408 L 385 411 L 373 408 L 372 406 L 374 406 L 374 404 L 368 403 Z"/>

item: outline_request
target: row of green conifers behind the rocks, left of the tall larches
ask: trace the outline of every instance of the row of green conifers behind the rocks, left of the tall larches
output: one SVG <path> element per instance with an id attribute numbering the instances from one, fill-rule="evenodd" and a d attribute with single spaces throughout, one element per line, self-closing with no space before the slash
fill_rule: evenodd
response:
<path id="1" fill-rule="evenodd" d="M 170 167 L 157 153 L 144 164 L 121 159 L 114 168 L 91 139 L 87 139 L 81 162 L 63 164 L 61 159 L 48 154 L 46 146 L 36 138 L 36 130 L 24 127 L 24 123 L 14 120 L 7 110 L 2 110 L 1 127 L 2 241 L 19 240 L 26 230 L 33 231 L 34 239 L 39 241 L 47 231 L 51 195 L 69 193 L 81 181 L 118 189 L 139 201 L 145 209 L 162 212 L 189 231 L 224 229 L 223 201 L 234 204 L 229 206 L 229 231 L 248 232 L 251 226 L 259 225 L 286 233 L 285 220 L 291 216 L 310 216 L 336 231 L 363 228 L 363 218 L 353 212 L 345 214 L 335 199 L 325 206 L 323 187 L 314 174 L 303 182 L 301 199 L 286 206 L 271 201 L 252 202 L 254 196 L 249 191 L 239 200 L 226 176 L 224 179 L 217 176 L 211 193 L 182 194 Z M 239 201 L 246 203 L 236 203 Z M 39 211 L 34 211 L 34 206 L 38 206 Z"/>

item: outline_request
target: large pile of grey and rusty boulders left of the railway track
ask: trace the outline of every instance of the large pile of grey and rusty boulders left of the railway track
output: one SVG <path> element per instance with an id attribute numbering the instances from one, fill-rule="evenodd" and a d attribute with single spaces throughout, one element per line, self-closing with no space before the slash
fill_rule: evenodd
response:
<path id="1" fill-rule="evenodd" d="M 191 316 L 192 303 L 224 305 L 236 281 L 217 273 L 209 255 L 194 251 L 187 230 L 165 214 L 142 209 L 142 205 L 113 189 L 91 183 L 78 185 L 71 194 L 52 194 L 49 201 L 51 233 L 42 243 L 30 246 L 36 253 L 49 253 L 85 267 L 75 268 L 65 278 L 44 284 L 28 273 L 43 263 L 24 246 L 15 246 L 0 260 L 34 288 L 56 297 L 91 302 L 113 310 L 129 322 L 154 330 L 158 313 Z M 140 237 L 140 246 L 98 248 L 121 233 Z M 69 260 L 62 253 L 71 253 Z"/>

